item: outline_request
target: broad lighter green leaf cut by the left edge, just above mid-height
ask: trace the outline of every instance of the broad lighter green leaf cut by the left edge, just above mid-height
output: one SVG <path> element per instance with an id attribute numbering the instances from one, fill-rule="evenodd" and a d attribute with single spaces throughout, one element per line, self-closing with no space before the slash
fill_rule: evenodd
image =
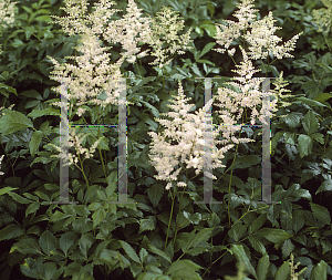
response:
<path id="1" fill-rule="evenodd" d="M 8 135 L 27 127 L 33 128 L 33 124 L 28 116 L 18 111 L 7 111 L 6 115 L 0 117 L 0 133 Z"/>

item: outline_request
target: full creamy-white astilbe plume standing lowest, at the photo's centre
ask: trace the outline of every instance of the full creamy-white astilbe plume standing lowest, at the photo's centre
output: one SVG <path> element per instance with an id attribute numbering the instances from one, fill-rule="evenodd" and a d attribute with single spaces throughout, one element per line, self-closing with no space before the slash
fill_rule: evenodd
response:
<path id="1" fill-rule="evenodd" d="M 160 134 L 156 134 L 155 132 L 148 133 L 152 136 L 152 148 L 149 152 L 152 159 L 151 163 L 152 166 L 154 166 L 158 172 L 156 178 L 168 182 L 166 189 L 170 188 L 172 182 L 178 182 L 177 176 L 179 175 L 181 167 L 176 169 L 174 174 L 170 175 L 170 173 L 180 163 L 186 164 L 187 169 L 194 167 L 196 169 L 196 175 L 201 172 L 204 166 L 205 138 L 201 127 L 205 127 L 205 112 L 211 106 L 212 100 L 205 104 L 204 108 L 200 108 L 198 113 L 196 112 L 196 114 L 188 113 L 193 106 L 186 103 L 188 100 L 189 98 L 185 98 L 183 86 L 179 83 L 178 96 L 175 96 L 175 100 L 173 101 L 174 104 L 168 104 L 174 112 L 163 114 L 173 117 L 174 121 L 170 122 L 168 120 L 155 118 L 155 121 L 159 122 L 166 127 L 166 129 Z M 226 129 L 228 128 L 229 127 L 226 127 Z M 234 131 L 237 131 L 240 127 L 232 128 Z M 225 134 L 224 137 L 226 137 L 226 139 L 216 141 L 217 136 L 222 129 L 225 131 L 225 127 L 219 126 L 217 129 L 211 132 L 210 135 L 212 137 L 214 145 L 226 145 L 229 142 L 229 137 L 226 137 Z M 229 132 L 226 132 L 226 134 L 229 134 Z M 178 144 L 169 144 L 166 141 L 166 137 L 176 141 Z M 232 137 L 232 141 L 236 143 L 251 142 L 251 139 L 237 139 L 235 137 Z M 232 146 L 232 144 L 229 144 L 220 149 L 215 149 L 211 153 L 212 163 L 211 165 L 208 164 L 208 168 L 225 167 L 220 159 L 224 158 L 224 154 Z M 212 174 L 208 173 L 208 176 L 217 179 Z M 181 187 L 187 186 L 185 182 L 178 182 L 177 185 Z"/>

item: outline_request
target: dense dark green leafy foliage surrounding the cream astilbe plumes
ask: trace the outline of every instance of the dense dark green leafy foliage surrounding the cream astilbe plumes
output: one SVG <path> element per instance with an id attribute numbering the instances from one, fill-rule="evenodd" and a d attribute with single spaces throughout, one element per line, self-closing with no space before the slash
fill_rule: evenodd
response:
<path id="1" fill-rule="evenodd" d="M 51 91 L 58 83 L 49 79 L 52 64 L 46 55 L 60 62 L 76 55 L 72 46 L 79 38 L 48 24 L 50 14 L 65 15 L 59 10 L 62 1 L 18 2 L 15 25 L 0 39 L 0 104 L 21 113 L 7 111 L 0 117 L 0 148 L 6 155 L 0 179 L 1 279 L 222 279 L 236 276 L 236 263 L 243 262 L 251 279 L 283 280 L 291 274 L 291 253 L 299 270 L 307 267 L 299 279 L 331 279 L 332 38 L 330 30 L 319 32 L 312 19 L 312 10 L 325 9 L 329 1 L 255 2 L 260 17 L 273 12 L 283 40 L 304 31 L 293 59 L 277 61 L 261 73 L 278 76 L 283 71 L 293 95 L 292 105 L 279 112 L 287 117 L 271 124 L 272 200 L 281 204 L 263 208 L 255 203 L 260 200 L 261 147 L 240 144 L 228 153 L 227 167 L 214 173 L 222 175 L 214 189 L 214 198 L 222 205 L 194 205 L 201 200 L 203 176 L 193 179 L 190 189 L 178 190 L 167 245 L 170 197 L 148 165 L 147 132 L 158 131 L 154 117 L 168 111 L 178 77 L 197 110 L 204 105 L 204 84 L 195 76 L 232 76 L 230 58 L 210 49 L 214 24 L 235 20 L 238 1 L 167 1 L 185 19 L 185 32 L 193 28 L 195 49 L 175 56 L 159 75 L 148 58 L 138 65 L 124 64 L 123 73 L 137 77 L 127 82 L 127 100 L 134 102 L 127 122 L 128 196 L 137 204 L 114 207 L 105 201 L 116 199 L 116 185 L 101 178 L 97 157 L 85 162 L 93 197 L 82 174 L 74 170 L 70 200 L 80 204 L 50 205 L 59 196 L 59 160 L 50 159 L 54 152 L 46 144 L 59 137 L 60 118 L 43 111 L 58 97 Z M 126 4 L 121 1 L 116 8 L 125 10 Z M 137 4 L 151 15 L 160 9 L 157 0 Z M 116 59 L 120 52 L 115 46 L 112 55 Z M 267 65 L 259 63 L 263 71 Z M 224 81 L 216 80 L 214 92 Z M 114 121 L 116 114 L 110 117 Z M 10 131 L 18 123 L 20 129 Z M 34 131 L 42 136 L 35 138 Z M 259 143 L 259 132 L 245 133 Z M 108 139 L 107 179 L 114 182 L 116 133 L 110 129 Z"/>

